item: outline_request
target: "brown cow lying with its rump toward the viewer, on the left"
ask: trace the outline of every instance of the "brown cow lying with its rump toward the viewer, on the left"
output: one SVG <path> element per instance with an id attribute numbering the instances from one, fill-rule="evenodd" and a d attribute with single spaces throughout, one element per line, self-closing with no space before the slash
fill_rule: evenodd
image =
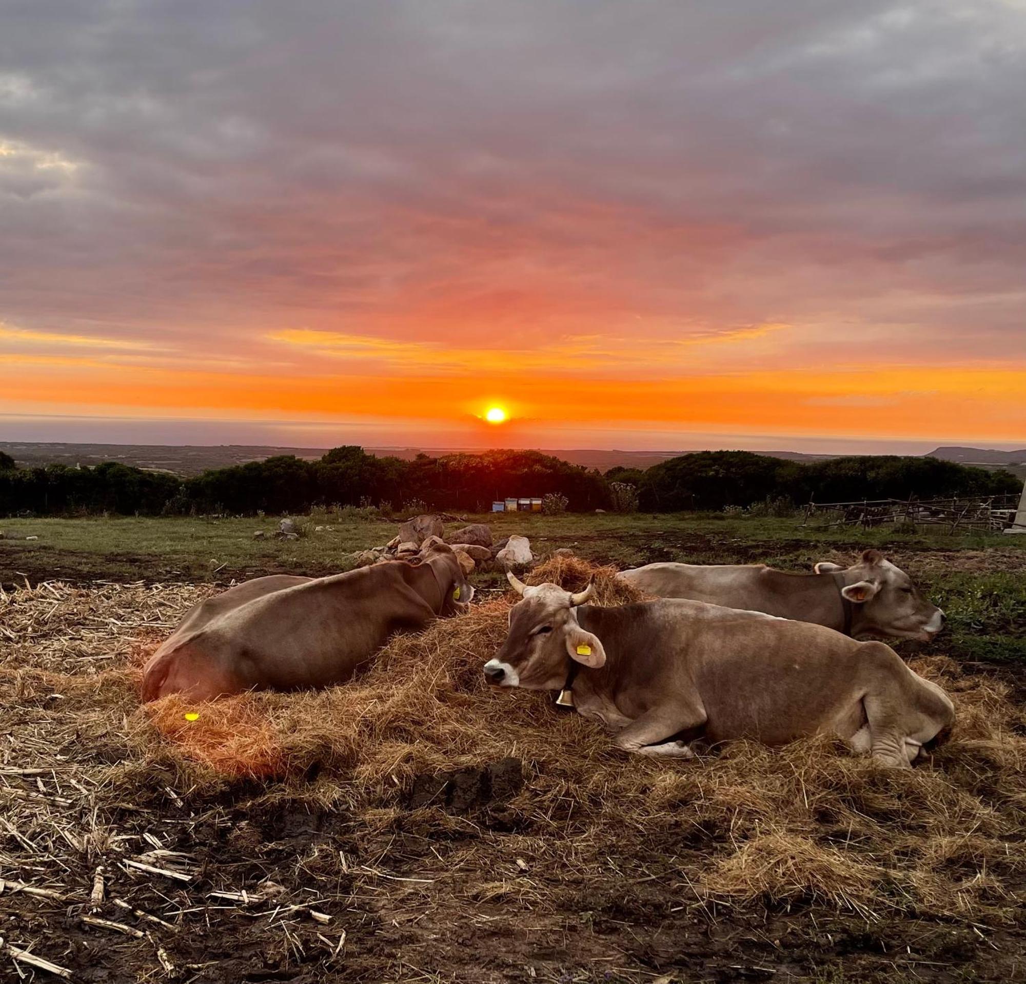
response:
<path id="1" fill-rule="evenodd" d="M 193 608 L 143 672 L 143 699 L 194 700 L 246 690 L 326 687 L 352 676 L 388 638 L 467 611 L 474 589 L 456 555 L 434 543 L 330 577 L 247 581 Z"/>

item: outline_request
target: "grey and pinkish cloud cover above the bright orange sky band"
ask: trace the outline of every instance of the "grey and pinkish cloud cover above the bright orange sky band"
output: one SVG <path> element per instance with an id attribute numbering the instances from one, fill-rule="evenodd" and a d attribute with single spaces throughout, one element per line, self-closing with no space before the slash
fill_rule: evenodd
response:
<path id="1" fill-rule="evenodd" d="M 528 333 L 1026 355 L 1024 55 L 991 0 L 15 0 L 0 139 L 80 166 L 0 158 L 0 315 L 186 343 L 534 297 Z"/>

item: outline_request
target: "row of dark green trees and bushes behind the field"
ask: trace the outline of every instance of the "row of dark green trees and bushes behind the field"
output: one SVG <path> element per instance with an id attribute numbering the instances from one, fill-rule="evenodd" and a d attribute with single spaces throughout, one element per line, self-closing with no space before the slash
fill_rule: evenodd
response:
<path id="1" fill-rule="evenodd" d="M 624 501 L 616 483 L 637 490 L 654 512 L 721 510 L 783 501 L 794 504 L 880 498 L 1018 493 L 1003 469 L 987 471 L 930 457 L 863 455 L 803 463 L 748 451 L 701 451 L 646 469 L 604 475 L 539 451 L 486 451 L 412 460 L 333 448 L 315 461 L 279 455 L 182 479 L 107 461 L 94 467 L 14 467 L 0 459 L 0 516 L 300 514 L 314 506 L 374 505 L 485 511 L 507 496 L 564 496 L 590 511 Z M 629 497 L 631 501 L 634 497 Z"/>

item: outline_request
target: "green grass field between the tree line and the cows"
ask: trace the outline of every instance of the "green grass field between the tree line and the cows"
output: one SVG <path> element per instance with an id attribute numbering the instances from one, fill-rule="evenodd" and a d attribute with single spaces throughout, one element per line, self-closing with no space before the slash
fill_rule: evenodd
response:
<path id="1" fill-rule="evenodd" d="M 536 556 L 570 547 L 588 560 L 620 568 L 653 561 L 698 564 L 765 563 L 808 570 L 818 560 L 854 560 L 867 546 L 891 556 L 948 614 L 945 651 L 962 660 L 1026 659 L 1026 537 L 936 532 L 894 533 L 804 527 L 794 519 L 667 516 L 496 514 L 497 539 L 521 533 Z M 197 581 L 228 584 L 269 573 L 320 576 L 349 570 L 354 551 L 387 542 L 397 524 L 318 512 L 304 519 L 299 540 L 270 538 L 278 519 L 87 518 L 0 522 L 0 583 L 39 580 Z M 448 524 L 449 529 L 457 523 Z M 321 532 L 314 532 L 322 526 Z M 265 530 L 268 539 L 253 539 Z M 475 577 L 481 586 L 496 574 Z"/>

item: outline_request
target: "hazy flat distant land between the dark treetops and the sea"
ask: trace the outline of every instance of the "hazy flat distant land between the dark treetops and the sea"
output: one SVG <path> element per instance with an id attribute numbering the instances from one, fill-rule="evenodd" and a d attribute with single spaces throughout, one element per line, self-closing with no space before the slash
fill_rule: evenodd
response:
<path id="1" fill-rule="evenodd" d="M 293 454 L 298 458 L 312 461 L 319 458 L 327 448 L 288 448 L 275 445 L 161 445 L 161 444 L 71 444 L 37 443 L 31 441 L 0 441 L 0 451 L 6 451 L 22 467 L 45 464 L 94 465 L 101 461 L 121 461 L 150 471 L 167 471 L 177 476 L 199 475 L 208 468 L 224 468 L 247 461 L 263 461 L 278 454 Z M 468 448 L 416 448 L 382 447 L 364 448 L 368 454 L 382 458 L 392 455 L 409 461 L 419 454 L 438 457 L 460 452 L 475 453 Z M 617 465 L 628 468 L 648 468 L 660 461 L 675 458 L 683 451 L 604 451 L 590 448 L 569 450 L 541 449 L 546 454 L 580 464 L 586 468 L 607 471 Z M 759 454 L 788 461 L 822 461 L 837 457 L 832 454 L 801 454 L 797 451 L 760 451 Z"/>

